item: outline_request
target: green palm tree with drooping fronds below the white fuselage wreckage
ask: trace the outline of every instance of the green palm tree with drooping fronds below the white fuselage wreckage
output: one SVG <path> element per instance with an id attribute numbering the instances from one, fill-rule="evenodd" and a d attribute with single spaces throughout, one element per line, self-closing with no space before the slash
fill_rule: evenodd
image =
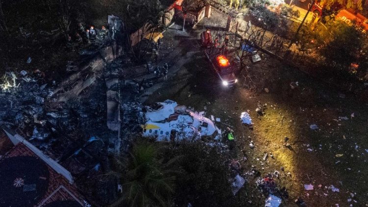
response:
<path id="1" fill-rule="evenodd" d="M 164 161 L 156 143 L 140 141 L 133 145 L 126 159 L 117 160 L 121 166 L 123 196 L 112 206 L 165 207 L 174 193 L 176 174 L 173 164 L 178 157 Z M 124 171 L 123 171 L 124 169 Z"/>

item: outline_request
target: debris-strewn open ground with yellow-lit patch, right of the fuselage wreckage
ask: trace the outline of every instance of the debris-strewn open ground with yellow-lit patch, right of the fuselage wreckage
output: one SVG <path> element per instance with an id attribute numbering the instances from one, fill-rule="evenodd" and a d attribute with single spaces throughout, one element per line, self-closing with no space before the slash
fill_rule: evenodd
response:
<path id="1" fill-rule="evenodd" d="M 192 32 L 195 38 L 200 29 Z M 174 100 L 220 118 L 221 123 L 216 124 L 221 129 L 231 126 L 237 145 L 233 156 L 246 157 L 241 161 L 244 175 L 252 166 L 261 176 L 279 171 L 277 185 L 289 192 L 284 206 L 295 206 L 297 197 L 313 207 L 368 206 L 366 103 L 265 55 L 260 63 L 248 64 L 252 82 L 238 76 L 238 85 L 227 89 L 211 73 L 201 48 L 196 44 L 183 48 L 190 51 L 185 57 L 188 61 L 146 103 Z M 298 85 L 291 89 L 291 82 Z M 265 105 L 263 116 L 255 111 L 258 102 Z M 254 129 L 241 123 L 243 111 L 249 112 Z M 319 129 L 310 129 L 312 124 Z M 265 153 L 268 158 L 263 160 Z M 237 206 L 263 206 L 265 198 L 257 190 L 257 178 L 246 177 L 246 187 L 235 197 Z M 304 184 L 314 185 L 314 190 L 304 190 Z M 331 185 L 340 192 L 333 192 Z"/>

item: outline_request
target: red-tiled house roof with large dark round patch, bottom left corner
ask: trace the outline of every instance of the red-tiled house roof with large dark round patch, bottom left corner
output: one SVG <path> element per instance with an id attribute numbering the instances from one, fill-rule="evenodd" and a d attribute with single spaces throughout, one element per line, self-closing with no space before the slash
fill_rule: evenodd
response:
<path id="1" fill-rule="evenodd" d="M 70 201 L 72 207 L 85 204 L 75 185 L 24 142 L 1 157 L 0 177 L 0 206 L 53 207 L 56 201 Z"/>

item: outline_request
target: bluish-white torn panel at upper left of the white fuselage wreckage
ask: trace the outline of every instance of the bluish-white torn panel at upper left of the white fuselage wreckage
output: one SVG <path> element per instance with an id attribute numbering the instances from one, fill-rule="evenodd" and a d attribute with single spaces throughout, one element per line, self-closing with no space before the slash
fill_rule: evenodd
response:
<path id="1" fill-rule="evenodd" d="M 170 100 L 166 100 L 160 104 L 162 105 L 160 109 L 146 112 L 147 120 L 151 120 L 152 122 L 165 120 L 175 112 L 175 107 L 178 105 L 178 103 Z"/>

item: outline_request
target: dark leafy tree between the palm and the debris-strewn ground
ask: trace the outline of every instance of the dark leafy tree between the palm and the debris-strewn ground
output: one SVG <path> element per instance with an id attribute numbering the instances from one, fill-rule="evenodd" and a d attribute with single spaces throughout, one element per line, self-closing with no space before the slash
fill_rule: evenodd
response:
<path id="1" fill-rule="evenodd" d="M 182 156 L 184 175 L 178 177 L 175 204 L 198 207 L 227 206 L 232 196 L 228 170 L 228 159 L 215 146 L 201 141 L 182 141 L 167 152 L 168 157 Z"/>

